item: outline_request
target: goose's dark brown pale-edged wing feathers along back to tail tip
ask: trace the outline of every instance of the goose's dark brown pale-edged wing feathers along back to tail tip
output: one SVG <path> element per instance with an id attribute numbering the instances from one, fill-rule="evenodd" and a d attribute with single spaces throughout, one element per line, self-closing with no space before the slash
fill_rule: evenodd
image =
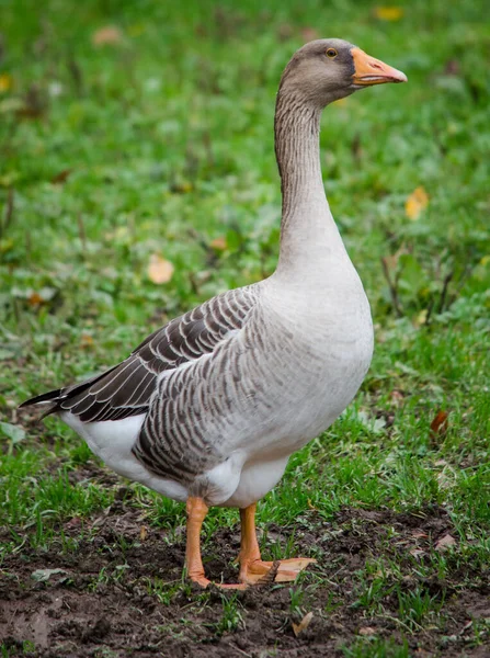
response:
<path id="1" fill-rule="evenodd" d="M 44 404 L 48 405 L 44 416 L 70 411 L 83 422 L 146 413 L 158 375 L 213 352 L 229 331 L 243 326 L 259 291 L 255 284 L 217 295 L 153 331 L 105 373 L 31 398 L 21 407 Z"/>

